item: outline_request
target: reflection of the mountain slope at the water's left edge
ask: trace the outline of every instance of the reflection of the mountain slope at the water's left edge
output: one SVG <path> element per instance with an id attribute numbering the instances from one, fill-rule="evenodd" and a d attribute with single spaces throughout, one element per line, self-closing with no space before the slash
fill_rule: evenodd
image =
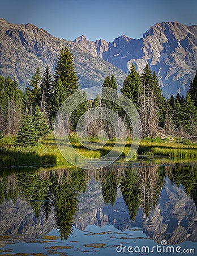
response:
<path id="1" fill-rule="evenodd" d="M 36 218 L 36 214 L 28 203 L 19 196 L 13 200 L 4 201 L 0 207 L 0 235 L 10 235 L 14 240 L 25 241 L 44 236 L 55 229 L 54 214 L 50 214 L 48 221 L 43 215 Z M 3 238 L 3 237 L 2 237 Z M 0 247 L 4 244 L 0 240 Z"/>

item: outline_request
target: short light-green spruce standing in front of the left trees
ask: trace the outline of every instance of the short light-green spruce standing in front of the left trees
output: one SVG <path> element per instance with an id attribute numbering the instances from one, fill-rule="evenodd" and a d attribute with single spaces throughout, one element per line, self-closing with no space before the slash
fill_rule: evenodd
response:
<path id="1" fill-rule="evenodd" d="M 33 123 L 32 116 L 27 114 L 23 115 L 17 137 L 16 143 L 20 146 L 33 146 L 36 144 L 37 132 Z"/>

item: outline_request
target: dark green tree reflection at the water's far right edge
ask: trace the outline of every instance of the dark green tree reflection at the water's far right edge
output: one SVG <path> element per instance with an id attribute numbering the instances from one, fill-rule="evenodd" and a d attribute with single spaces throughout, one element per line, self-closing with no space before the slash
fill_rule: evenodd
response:
<path id="1" fill-rule="evenodd" d="M 190 196 L 197 208 L 197 168 L 196 165 L 179 164 L 177 166 L 169 166 L 167 171 L 168 177 L 172 183 L 183 185 L 187 196 Z"/>

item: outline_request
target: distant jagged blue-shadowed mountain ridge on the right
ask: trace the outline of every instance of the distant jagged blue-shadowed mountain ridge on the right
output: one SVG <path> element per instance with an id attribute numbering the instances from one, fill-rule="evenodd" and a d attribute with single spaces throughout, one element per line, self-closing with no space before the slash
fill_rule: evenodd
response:
<path id="1" fill-rule="evenodd" d="M 74 42 L 126 73 L 132 63 L 139 73 L 148 63 L 168 93 L 185 94 L 197 68 L 197 25 L 161 22 L 151 26 L 140 39 L 121 35 L 113 42 L 104 39 L 90 42 L 79 36 Z"/>

